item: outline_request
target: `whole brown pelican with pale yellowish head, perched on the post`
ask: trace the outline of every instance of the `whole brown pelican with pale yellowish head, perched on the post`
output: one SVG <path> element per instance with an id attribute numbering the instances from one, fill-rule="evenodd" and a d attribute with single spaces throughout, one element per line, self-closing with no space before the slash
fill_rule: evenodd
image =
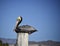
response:
<path id="1" fill-rule="evenodd" d="M 16 21 L 15 32 L 17 32 L 17 33 L 22 32 L 22 33 L 29 33 L 29 34 L 31 34 L 31 33 L 35 32 L 35 31 L 37 31 L 34 27 L 32 27 L 30 25 L 19 26 L 21 21 L 22 21 L 22 17 L 19 16 L 17 18 L 17 21 Z"/>

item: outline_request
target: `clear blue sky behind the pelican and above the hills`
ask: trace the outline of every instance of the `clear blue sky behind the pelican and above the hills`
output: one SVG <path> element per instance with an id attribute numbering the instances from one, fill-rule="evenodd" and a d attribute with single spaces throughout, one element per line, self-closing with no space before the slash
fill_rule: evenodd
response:
<path id="1" fill-rule="evenodd" d="M 29 35 L 30 41 L 60 41 L 59 0 L 0 0 L 0 37 L 16 39 L 13 29 L 18 16 L 23 17 L 21 25 L 38 30 Z"/>

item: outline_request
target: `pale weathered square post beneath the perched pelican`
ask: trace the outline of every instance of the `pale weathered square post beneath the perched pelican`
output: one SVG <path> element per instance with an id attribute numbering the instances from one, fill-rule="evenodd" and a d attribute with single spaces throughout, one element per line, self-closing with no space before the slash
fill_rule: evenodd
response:
<path id="1" fill-rule="evenodd" d="M 28 33 L 17 33 L 17 46 L 28 46 Z"/>

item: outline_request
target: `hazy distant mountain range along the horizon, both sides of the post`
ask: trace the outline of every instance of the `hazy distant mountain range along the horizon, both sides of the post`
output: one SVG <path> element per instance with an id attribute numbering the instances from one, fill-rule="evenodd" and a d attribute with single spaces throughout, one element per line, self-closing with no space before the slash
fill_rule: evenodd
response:
<path id="1" fill-rule="evenodd" d="M 8 43 L 8 44 L 15 44 L 16 43 L 16 39 L 6 39 L 6 38 L 0 38 L 0 40 L 3 43 Z M 48 40 L 48 41 L 40 41 L 40 42 L 35 42 L 35 41 L 29 41 L 29 44 L 39 44 L 39 46 L 41 45 L 48 45 L 48 46 L 60 46 L 60 42 L 57 41 L 52 41 L 52 40 Z"/>

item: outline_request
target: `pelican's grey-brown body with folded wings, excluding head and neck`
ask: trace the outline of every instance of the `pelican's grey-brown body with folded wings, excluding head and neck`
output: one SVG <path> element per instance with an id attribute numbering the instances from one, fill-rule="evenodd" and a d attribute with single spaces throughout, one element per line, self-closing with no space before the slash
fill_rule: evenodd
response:
<path id="1" fill-rule="evenodd" d="M 34 27 L 30 26 L 30 25 L 23 25 L 23 26 L 19 26 L 16 30 L 17 33 L 33 33 L 35 31 L 37 31 Z"/>

